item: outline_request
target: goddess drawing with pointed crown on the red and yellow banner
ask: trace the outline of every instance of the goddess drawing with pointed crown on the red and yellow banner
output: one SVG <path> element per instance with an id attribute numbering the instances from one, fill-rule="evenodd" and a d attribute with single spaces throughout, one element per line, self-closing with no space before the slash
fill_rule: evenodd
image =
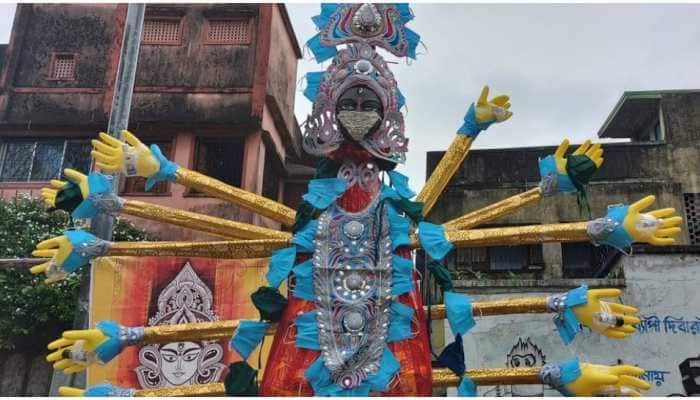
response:
<path id="1" fill-rule="evenodd" d="M 157 312 L 149 326 L 218 320 L 211 290 L 186 263 L 158 295 Z M 217 382 L 225 365 L 224 350 L 211 341 L 176 342 L 144 346 L 135 369 L 141 387 L 153 389 Z"/>

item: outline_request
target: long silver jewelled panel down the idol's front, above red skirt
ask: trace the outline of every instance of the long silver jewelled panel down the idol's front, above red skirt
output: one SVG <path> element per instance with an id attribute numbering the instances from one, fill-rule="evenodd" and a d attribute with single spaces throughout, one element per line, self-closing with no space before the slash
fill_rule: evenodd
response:
<path id="1" fill-rule="evenodd" d="M 377 203 L 359 213 L 332 205 L 319 217 L 316 231 L 319 343 L 333 381 L 345 389 L 379 370 L 386 347 L 392 249 L 389 218 Z"/>

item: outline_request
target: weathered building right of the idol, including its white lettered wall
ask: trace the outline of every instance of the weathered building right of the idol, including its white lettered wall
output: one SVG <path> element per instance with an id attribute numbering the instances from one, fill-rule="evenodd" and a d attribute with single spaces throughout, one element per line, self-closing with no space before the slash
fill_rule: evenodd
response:
<path id="1" fill-rule="evenodd" d="M 608 205 L 653 194 L 656 208 L 675 207 L 684 218 L 676 246 L 635 246 L 633 257 L 590 244 L 482 247 L 455 251 L 447 262 L 457 278 L 456 290 L 475 301 L 545 296 L 582 283 L 624 288 L 622 300 L 640 308 L 639 332 L 613 341 L 585 331 L 569 348 L 562 344 L 551 315 L 480 318 L 465 338 L 467 365 L 515 367 L 526 360 L 539 365 L 581 354 L 584 361 L 646 368 L 653 395 L 698 394 L 700 373 L 691 366 L 700 362 L 700 91 L 626 92 L 598 136 L 629 142 L 603 146 L 605 162 L 587 189 L 593 217 L 604 215 Z M 447 221 L 534 187 L 539 182 L 538 158 L 555 149 L 471 151 L 432 219 Z M 441 157 L 441 152 L 428 153 L 428 173 Z M 489 226 L 586 219 L 575 196 L 558 195 Z M 542 392 L 533 387 L 480 389 L 487 395 Z"/>

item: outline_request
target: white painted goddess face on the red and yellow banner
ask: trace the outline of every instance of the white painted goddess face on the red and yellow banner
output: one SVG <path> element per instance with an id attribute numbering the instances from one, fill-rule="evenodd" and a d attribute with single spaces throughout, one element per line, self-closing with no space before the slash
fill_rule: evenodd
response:
<path id="1" fill-rule="evenodd" d="M 197 373 L 197 362 L 202 348 L 194 342 L 168 343 L 158 352 L 161 357 L 161 371 L 172 385 L 182 385 Z"/>

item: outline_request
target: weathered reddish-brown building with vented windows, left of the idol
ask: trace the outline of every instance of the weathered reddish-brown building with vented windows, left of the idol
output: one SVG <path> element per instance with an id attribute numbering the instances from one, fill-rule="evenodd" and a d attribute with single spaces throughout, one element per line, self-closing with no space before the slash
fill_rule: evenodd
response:
<path id="1" fill-rule="evenodd" d="M 0 55 L 0 194 L 86 171 L 109 119 L 126 4 L 22 4 Z M 190 169 L 282 201 L 301 156 L 299 45 L 283 4 L 146 8 L 130 129 Z M 182 186 L 124 179 L 126 198 L 275 226 Z M 137 221 L 163 239 L 194 232 Z"/>

